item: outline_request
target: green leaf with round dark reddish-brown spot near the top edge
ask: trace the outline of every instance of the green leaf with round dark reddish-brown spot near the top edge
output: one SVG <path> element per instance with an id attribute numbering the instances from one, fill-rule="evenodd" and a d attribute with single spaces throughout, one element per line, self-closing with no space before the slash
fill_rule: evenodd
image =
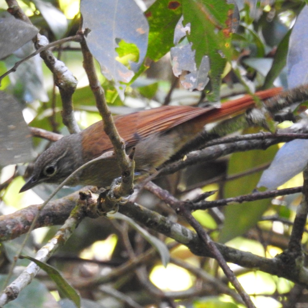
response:
<path id="1" fill-rule="evenodd" d="M 150 59 L 158 61 L 174 46 L 174 29 L 182 16 L 181 2 L 157 0 L 145 11 L 150 27 L 147 51 Z"/>

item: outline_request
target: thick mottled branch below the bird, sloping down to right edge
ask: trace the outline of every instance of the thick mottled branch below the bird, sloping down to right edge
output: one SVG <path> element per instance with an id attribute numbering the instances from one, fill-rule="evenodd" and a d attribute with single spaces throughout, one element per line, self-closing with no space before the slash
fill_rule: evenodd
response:
<path id="1" fill-rule="evenodd" d="M 85 189 L 88 191 L 89 188 Z M 12 229 L 16 228 L 16 226 L 18 226 L 19 228 L 18 235 L 26 233 L 29 229 L 29 225 L 31 224 L 35 213 L 39 213 L 37 224 L 35 225 L 36 228 L 43 225 L 61 223 L 61 221 L 64 221 L 65 218 L 69 216 L 72 208 L 74 207 L 78 199 L 79 194 L 74 193 L 63 199 L 60 199 L 62 203 L 57 204 L 58 200 L 51 201 L 51 203 L 46 206 L 42 213 L 39 211 L 38 205 L 33 205 L 28 208 L 19 210 L 14 214 L 2 216 L 0 220 L 0 233 L 2 236 L 1 239 L 10 239 L 10 234 L 14 232 L 12 231 Z M 29 215 L 27 214 L 28 209 L 30 210 Z M 59 215 L 60 210 L 61 215 Z M 45 211 L 48 211 L 47 213 L 49 213 L 49 216 L 46 216 Z M 150 229 L 155 230 L 156 232 L 164 234 L 167 237 L 173 238 L 174 240 L 183 245 L 186 245 L 192 251 L 192 253 L 198 256 L 213 257 L 213 254 L 205 248 L 205 246 L 200 241 L 200 238 L 195 232 L 188 228 L 185 228 L 183 225 L 169 220 L 168 218 L 160 215 L 159 213 L 156 213 L 150 209 L 144 208 L 141 205 L 129 201 L 125 204 L 125 206 L 119 207 L 119 212 L 134 219 L 141 225 L 144 225 Z M 15 219 L 17 220 L 10 223 L 14 215 L 17 217 L 15 217 Z M 19 217 L 21 217 L 22 219 Z M 21 219 L 21 221 L 23 221 L 25 225 L 21 227 L 19 224 L 17 224 L 20 222 L 18 219 Z M 15 232 L 14 237 L 17 237 L 18 235 Z M 283 260 L 279 257 L 269 259 L 254 255 L 250 252 L 233 249 L 219 243 L 215 243 L 215 245 L 220 250 L 221 254 L 227 262 L 232 262 L 246 268 L 258 268 L 263 272 L 277 275 L 279 277 L 284 277 L 292 280 L 293 282 L 308 287 L 308 270 L 305 268 L 302 269 L 301 275 L 297 275 L 295 271 L 285 270 L 283 268 Z M 90 284 L 96 285 L 102 283 L 102 279 L 104 281 L 105 277 L 98 278 L 98 280 L 95 282 L 91 281 Z M 82 286 L 83 283 L 80 282 L 80 285 Z"/>

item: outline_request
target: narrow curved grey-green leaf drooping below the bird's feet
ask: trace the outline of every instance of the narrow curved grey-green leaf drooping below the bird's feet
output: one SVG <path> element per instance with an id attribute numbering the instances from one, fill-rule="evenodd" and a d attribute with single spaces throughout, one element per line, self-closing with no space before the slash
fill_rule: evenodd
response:
<path id="1" fill-rule="evenodd" d="M 140 225 L 136 224 L 135 221 L 133 221 L 131 218 L 121 214 L 121 213 L 115 213 L 115 214 L 108 214 L 108 217 L 121 219 L 129 223 L 135 230 L 137 230 L 152 246 L 156 248 L 156 250 L 160 254 L 161 262 L 164 266 L 167 266 L 170 260 L 170 254 L 167 246 L 160 241 L 157 237 L 152 236 L 150 233 L 148 233 L 147 230 L 140 227 Z"/>

